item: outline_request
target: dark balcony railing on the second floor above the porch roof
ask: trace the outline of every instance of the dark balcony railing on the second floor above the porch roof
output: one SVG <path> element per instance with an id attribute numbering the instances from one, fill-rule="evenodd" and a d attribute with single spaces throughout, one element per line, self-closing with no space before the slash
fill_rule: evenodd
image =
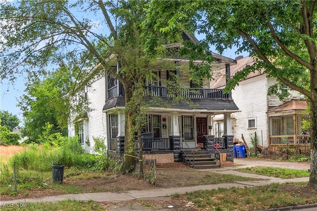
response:
<path id="1" fill-rule="evenodd" d="M 173 94 L 179 94 L 186 98 L 229 98 L 228 93 L 223 93 L 222 89 L 211 88 L 181 88 L 177 93 L 172 88 L 162 86 L 144 86 L 145 96 L 171 97 Z"/>

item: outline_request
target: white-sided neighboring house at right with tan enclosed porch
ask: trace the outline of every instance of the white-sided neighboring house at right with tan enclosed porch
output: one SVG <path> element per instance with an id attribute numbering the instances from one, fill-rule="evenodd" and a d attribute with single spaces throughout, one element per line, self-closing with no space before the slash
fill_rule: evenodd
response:
<path id="1" fill-rule="evenodd" d="M 230 67 L 231 77 L 246 65 L 252 65 L 252 57 L 236 57 L 237 64 Z M 220 73 L 224 74 L 225 70 Z M 221 74 L 220 74 L 221 76 Z M 242 141 L 242 134 L 250 147 L 252 141 L 250 134 L 257 134 L 257 144 L 262 146 L 297 144 L 309 142 L 309 135 L 302 135 L 302 120 L 308 115 L 303 114 L 307 108 L 304 95 L 298 91 L 285 87 L 289 96 L 280 101 L 277 96 L 267 94 L 268 87 L 276 84 L 274 78 L 267 77 L 263 72 L 250 73 L 245 80 L 239 82 L 232 90 L 232 99 L 239 107 L 239 113 L 231 115 L 232 132 L 235 141 Z M 223 88 L 225 79 L 219 77 L 211 88 Z M 222 135 L 222 116 L 212 117 L 213 133 L 215 137 Z M 286 138 L 287 137 L 287 138 Z M 295 140 L 295 141 L 294 141 Z"/>

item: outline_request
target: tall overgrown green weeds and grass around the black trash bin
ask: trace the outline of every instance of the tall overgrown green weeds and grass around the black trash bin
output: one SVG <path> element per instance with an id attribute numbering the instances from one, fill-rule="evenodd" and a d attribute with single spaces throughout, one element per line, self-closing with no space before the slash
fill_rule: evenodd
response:
<path id="1" fill-rule="evenodd" d="M 107 173 L 100 173 L 111 165 L 104 155 L 92 155 L 85 153 L 76 138 L 69 138 L 61 146 L 30 144 L 27 149 L 11 155 L 7 164 L 0 163 L 0 194 L 16 195 L 14 171 L 16 169 L 16 189 L 18 193 L 25 195 L 31 189 L 53 188 L 64 193 L 80 193 L 77 186 L 56 186 L 52 184 L 52 165 L 65 165 L 65 179 L 89 179 L 94 177 L 106 177 Z M 112 168 L 114 168 L 112 167 Z M 109 168 L 110 169 L 110 168 Z"/>

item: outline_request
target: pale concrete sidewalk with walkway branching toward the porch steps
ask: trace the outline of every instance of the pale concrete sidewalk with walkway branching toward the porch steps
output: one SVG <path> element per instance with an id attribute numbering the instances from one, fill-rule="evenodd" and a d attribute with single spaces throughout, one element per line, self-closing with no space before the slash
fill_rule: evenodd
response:
<path id="1" fill-rule="evenodd" d="M 146 199 L 153 197 L 166 197 L 172 194 L 185 194 L 186 192 L 193 192 L 197 190 L 210 190 L 221 188 L 231 188 L 231 187 L 252 187 L 252 186 L 262 186 L 270 183 L 285 183 L 285 182 L 308 182 L 309 177 L 293 178 L 293 179 L 280 179 L 275 177 L 263 176 L 258 174 L 242 173 L 234 171 L 234 168 L 241 167 L 221 167 L 220 169 L 204 169 L 203 171 L 232 174 L 244 177 L 254 177 L 260 179 L 259 181 L 239 181 L 234 183 L 222 183 L 215 185 L 199 185 L 191 187 L 173 187 L 173 188 L 162 188 L 155 190 L 131 190 L 125 192 L 103 192 L 103 193 L 82 193 L 82 194 L 64 194 L 59 196 L 49 196 L 44 198 L 25 198 L 17 199 L 11 201 L 2 201 L 1 203 L 28 203 L 28 202 L 57 202 L 66 199 L 79 200 L 79 201 L 89 201 L 93 200 L 96 202 L 120 202 L 133 199 Z"/>

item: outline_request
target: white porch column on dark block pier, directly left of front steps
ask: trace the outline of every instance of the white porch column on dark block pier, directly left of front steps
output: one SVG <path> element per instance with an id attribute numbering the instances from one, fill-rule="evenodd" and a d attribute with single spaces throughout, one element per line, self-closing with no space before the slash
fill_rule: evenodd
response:
<path id="1" fill-rule="evenodd" d="M 179 134 L 179 122 L 178 122 L 178 113 L 171 113 L 170 118 L 170 130 L 171 134 L 169 136 L 170 148 L 174 153 L 174 162 L 181 162 L 180 156 L 180 134 Z"/>

